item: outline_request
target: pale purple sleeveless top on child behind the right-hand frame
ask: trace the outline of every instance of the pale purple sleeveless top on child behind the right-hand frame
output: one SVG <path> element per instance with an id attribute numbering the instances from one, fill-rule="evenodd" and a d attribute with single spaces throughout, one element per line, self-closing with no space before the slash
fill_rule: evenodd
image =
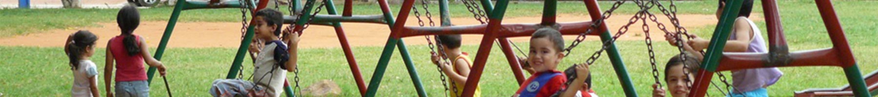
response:
<path id="1" fill-rule="evenodd" d="M 749 23 L 752 28 L 753 37 L 751 38 L 750 45 L 747 46 L 747 52 L 768 52 L 768 47 L 766 47 L 766 42 L 762 38 L 762 31 L 759 31 L 759 27 L 756 26 L 756 24 L 753 24 L 753 21 L 747 17 L 738 17 L 738 19 L 747 20 L 747 23 Z M 734 32 L 734 30 L 732 30 L 732 32 Z M 730 40 L 736 38 L 735 34 L 729 36 Z M 744 69 L 732 72 L 731 81 L 732 86 L 739 90 L 735 93 L 749 92 L 762 87 L 774 85 L 775 82 L 781 79 L 781 75 L 783 75 L 783 73 L 781 73 L 781 70 L 777 69 L 777 67 Z"/>

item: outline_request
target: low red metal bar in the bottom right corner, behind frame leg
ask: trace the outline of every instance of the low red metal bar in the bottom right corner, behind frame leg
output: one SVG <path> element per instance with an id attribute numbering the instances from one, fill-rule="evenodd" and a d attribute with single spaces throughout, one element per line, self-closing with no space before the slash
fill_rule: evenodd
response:
<path id="1" fill-rule="evenodd" d="M 869 94 L 878 94 L 878 70 L 869 73 L 866 77 L 863 77 L 863 80 L 866 80 L 866 85 L 869 87 Z M 826 97 L 826 96 L 854 96 L 852 92 L 851 85 L 845 85 L 844 87 L 838 88 L 814 88 L 814 89 L 806 89 L 802 91 L 795 92 L 795 97 Z"/>

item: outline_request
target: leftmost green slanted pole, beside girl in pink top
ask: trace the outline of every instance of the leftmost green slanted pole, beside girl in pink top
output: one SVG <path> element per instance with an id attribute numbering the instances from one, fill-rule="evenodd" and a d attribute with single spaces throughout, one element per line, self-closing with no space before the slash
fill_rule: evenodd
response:
<path id="1" fill-rule="evenodd" d="M 185 3 L 185 0 L 178 0 L 176 3 Z M 162 34 L 162 41 L 159 42 L 159 47 L 155 50 L 155 55 L 153 58 L 157 60 L 162 60 L 162 55 L 164 55 L 164 50 L 168 46 L 168 41 L 170 40 L 170 35 L 174 31 L 174 26 L 176 26 L 176 20 L 180 18 L 180 12 L 183 11 L 183 7 L 186 4 L 176 4 L 174 5 L 174 11 L 171 12 L 170 18 L 168 20 L 168 25 L 165 27 L 165 31 Z M 147 70 L 147 83 L 152 83 L 153 75 L 155 75 L 155 67 L 149 67 Z"/>

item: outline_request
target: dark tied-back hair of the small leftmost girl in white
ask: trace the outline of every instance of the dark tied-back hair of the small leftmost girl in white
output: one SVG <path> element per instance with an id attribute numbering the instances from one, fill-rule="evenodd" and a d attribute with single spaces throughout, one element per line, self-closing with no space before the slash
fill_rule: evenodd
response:
<path id="1" fill-rule="evenodd" d="M 90 31 L 76 31 L 70 40 L 65 48 L 68 50 L 67 57 L 70 59 L 70 67 L 76 70 L 76 67 L 79 67 L 79 57 L 83 56 L 83 52 L 87 51 L 89 46 L 95 45 L 97 36 Z"/>

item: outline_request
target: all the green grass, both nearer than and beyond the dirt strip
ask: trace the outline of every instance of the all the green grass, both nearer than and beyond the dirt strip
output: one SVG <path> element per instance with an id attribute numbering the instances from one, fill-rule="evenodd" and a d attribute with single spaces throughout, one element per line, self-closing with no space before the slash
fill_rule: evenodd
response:
<path id="1" fill-rule="evenodd" d="M 878 69 L 875 63 L 878 63 L 878 57 L 872 56 L 878 54 L 878 24 L 872 21 L 878 21 L 875 12 L 861 12 L 863 10 L 878 10 L 878 8 L 869 7 L 878 4 L 875 1 L 834 1 L 835 9 L 841 23 L 846 31 L 849 44 L 852 46 L 853 53 L 860 66 L 861 73 L 871 73 Z M 507 15 L 539 15 L 538 11 L 523 11 L 532 9 L 541 9 L 538 6 L 542 3 L 517 3 L 520 6 L 510 6 Z M 517 5 L 516 4 L 516 5 Z M 572 13 L 577 10 L 564 10 L 564 8 L 582 9 L 581 3 L 560 3 L 562 10 L 560 13 Z M 609 4 L 601 3 L 606 9 Z M 678 3 L 680 12 L 694 14 L 710 14 L 716 9 L 716 2 L 686 2 Z M 822 20 L 817 14 L 817 8 L 813 1 L 780 1 L 781 17 L 784 24 L 790 49 L 793 51 L 810 50 L 817 48 L 830 47 L 829 37 L 826 34 Z M 377 8 L 377 4 L 357 4 L 358 6 L 372 6 Z M 625 4 L 620 10 L 622 13 L 633 12 L 633 4 Z M 684 6 L 691 6 L 692 8 Z M 452 5 L 454 9 L 464 9 L 460 4 Z M 757 2 L 754 12 L 761 12 L 759 2 Z M 158 21 L 167 19 L 169 16 L 169 7 L 160 7 L 152 9 L 140 10 L 143 18 L 150 21 Z M 396 8 L 398 10 L 398 5 Z M 522 10 L 522 11 L 519 11 Z M 117 10 L 0 10 L 0 13 L 19 13 L 0 14 L 3 17 L 10 17 L 0 20 L 0 37 L 8 37 L 13 35 L 21 35 L 33 31 L 47 29 L 63 29 L 71 26 L 90 26 L 94 22 L 112 22 Z M 224 10 L 187 10 L 184 13 L 182 21 L 215 21 L 215 22 L 235 22 L 234 18 L 236 9 Z M 465 10 L 455 13 L 456 17 L 467 17 L 469 15 Z M 515 14 L 520 12 L 521 14 Z M 357 11 L 356 14 L 378 13 L 375 10 Z M 532 14 L 524 14 L 532 13 Z M 49 14 L 54 16 L 48 16 Z M 229 15 L 226 15 L 229 14 Z M 227 16 L 227 17 L 212 17 Z M 510 17 L 522 17 L 510 16 Z M 49 18 L 49 19 L 39 19 Z M 683 18 L 685 19 L 685 18 Z M 74 24 L 89 23 L 89 24 Z M 765 31 L 764 22 L 758 22 L 760 28 Z M 713 26 L 703 26 L 689 28 L 690 32 L 701 35 L 703 38 L 709 38 Z M 615 28 L 613 28 L 615 29 Z M 20 33 L 15 33 L 20 32 Z M 637 32 L 637 31 L 630 31 Z M 763 33 L 764 36 L 767 36 Z M 420 39 L 420 38 L 415 38 Z M 568 38 L 569 39 L 569 38 Z M 384 40 L 378 40 L 384 41 Z M 569 42 L 569 41 L 568 41 Z M 173 44 L 173 43 L 171 43 Z M 558 67 L 566 67 L 573 63 L 584 61 L 585 56 L 591 54 L 598 49 L 598 41 L 588 41 L 584 45 L 580 45 L 572 56 L 568 57 Z M 677 53 L 676 48 L 666 45 L 665 42 L 658 41 L 655 43 L 658 65 L 664 65 L 666 60 L 673 54 Z M 527 44 L 519 44 L 527 45 Z M 646 48 L 643 41 L 619 41 L 617 46 L 623 55 L 626 63 L 626 69 L 629 71 L 631 80 L 634 81 L 637 93 L 641 96 L 649 96 L 651 94 L 651 84 L 654 81 L 651 78 L 648 57 L 646 57 Z M 355 47 L 357 63 L 363 72 L 363 78 L 367 81 L 374 72 L 375 65 L 378 63 L 378 56 L 382 47 Z M 464 45 L 464 52 L 475 53 L 477 45 Z M 410 45 L 412 59 L 419 70 L 421 80 L 424 87 L 428 89 L 431 96 L 443 96 L 443 87 L 439 82 L 438 72 L 434 65 L 428 63 L 428 48 L 425 45 Z M 527 48 L 522 48 L 527 49 Z M 103 52 L 103 49 L 97 49 L 97 52 Z M 169 82 L 172 85 L 171 90 L 177 96 L 209 96 L 207 90 L 212 80 L 225 78 L 230 63 L 234 57 L 234 48 L 169 48 L 165 53 L 163 62 L 169 66 Z M 0 93 L 10 96 L 21 96 L 25 94 L 33 94 L 27 96 L 69 96 L 69 89 L 72 76 L 69 72 L 68 60 L 63 56 L 61 47 L 18 47 L 18 46 L 0 46 L 0 55 L 4 58 L 0 59 Z M 334 80 L 343 90 L 343 96 L 357 96 L 356 84 L 354 84 L 347 62 L 340 48 L 327 49 L 303 49 L 300 55 L 302 68 L 303 87 L 307 87 L 318 80 Z M 471 56 L 474 57 L 474 56 Z M 98 64 L 99 73 L 104 73 L 103 63 L 104 55 L 98 53 L 92 60 Z M 249 61 L 249 60 L 245 60 Z M 247 62 L 245 62 L 247 63 Z M 405 66 L 399 58 L 399 53 L 395 53 L 391 66 L 388 66 L 385 79 L 382 81 L 379 94 L 377 96 L 416 96 L 414 87 L 410 77 L 408 76 Z M 245 76 L 250 76 L 252 65 L 245 64 Z M 659 66 L 660 67 L 660 66 Z M 615 73 L 609 65 L 607 57 L 602 57 L 593 66 L 594 89 L 601 96 L 619 97 L 624 96 L 620 83 Z M 482 94 L 487 96 L 508 96 L 515 93 L 515 79 L 509 71 L 507 62 L 502 53 L 496 49 L 491 53 L 485 73 L 481 79 Z M 785 67 L 781 68 L 785 73 L 778 84 L 769 87 L 769 94 L 772 96 L 789 96 L 793 92 L 807 88 L 823 88 L 823 87 L 840 87 L 847 84 L 844 73 L 840 67 L 836 66 L 810 66 L 810 67 Z M 663 71 L 662 71 L 663 72 Z M 99 85 L 104 86 L 103 74 L 100 75 Z M 292 77 L 293 74 L 289 74 Z M 716 82 L 718 80 L 715 79 Z M 153 96 L 165 96 L 164 84 L 161 78 L 155 79 L 155 85 L 152 87 Z M 725 87 L 720 85 L 720 87 Z M 99 87 L 103 93 L 104 87 Z M 712 96 L 722 96 L 717 92 L 716 88 L 709 90 Z"/>

